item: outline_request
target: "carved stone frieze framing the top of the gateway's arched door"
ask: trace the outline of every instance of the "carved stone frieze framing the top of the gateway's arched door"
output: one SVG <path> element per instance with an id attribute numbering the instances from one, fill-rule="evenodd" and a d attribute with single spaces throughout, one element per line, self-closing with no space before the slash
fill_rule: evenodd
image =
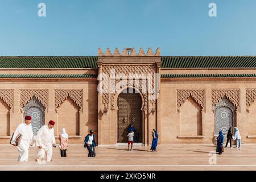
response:
<path id="1" fill-rule="evenodd" d="M 147 97 L 155 106 L 155 65 L 104 65 L 102 73 L 102 104 L 106 109 L 109 109 L 109 105 L 110 109 L 115 109 L 114 98 L 121 91 L 117 88 L 127 86 L 137 89 L 143 95 L 144 110 L 148 108 Z"/>

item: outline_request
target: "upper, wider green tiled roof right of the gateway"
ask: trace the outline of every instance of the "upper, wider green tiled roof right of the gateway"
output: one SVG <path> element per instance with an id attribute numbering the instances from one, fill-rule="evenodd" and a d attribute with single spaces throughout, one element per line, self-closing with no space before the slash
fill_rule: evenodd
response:
<path id="1" fill-rule="evenodd" d="M 164 56 L 162 68 L 256 68 L 256 56 Z"/>

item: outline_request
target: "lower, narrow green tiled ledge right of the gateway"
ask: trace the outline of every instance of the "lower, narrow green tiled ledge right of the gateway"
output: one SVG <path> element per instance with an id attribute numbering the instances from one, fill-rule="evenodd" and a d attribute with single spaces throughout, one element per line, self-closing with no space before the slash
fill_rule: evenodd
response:
<path id="1" fill-rule="evenodd" d="M 162 74 L 162 78 L 255 78 L 256 74 Z"/>

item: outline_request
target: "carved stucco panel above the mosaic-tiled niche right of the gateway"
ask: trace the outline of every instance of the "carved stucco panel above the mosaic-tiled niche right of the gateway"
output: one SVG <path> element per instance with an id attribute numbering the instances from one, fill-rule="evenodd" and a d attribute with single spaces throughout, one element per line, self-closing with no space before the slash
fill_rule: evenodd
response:
<path id="1" fill-rule="evenodd" d="M 240 111 L 240 89 L 212 89 L 212 108 L 226 96 Z M 214 109 L 212 109 L 214 112 Z"/>

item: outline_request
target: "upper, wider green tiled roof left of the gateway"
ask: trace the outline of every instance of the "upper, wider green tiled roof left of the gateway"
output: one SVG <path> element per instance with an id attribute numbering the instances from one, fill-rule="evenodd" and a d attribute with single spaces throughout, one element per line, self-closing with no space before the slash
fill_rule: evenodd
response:
<path id="1" fill-rule="evenodd" d="M 98 57 L 0 56 L 0 68 L 97 68 Z"/>

